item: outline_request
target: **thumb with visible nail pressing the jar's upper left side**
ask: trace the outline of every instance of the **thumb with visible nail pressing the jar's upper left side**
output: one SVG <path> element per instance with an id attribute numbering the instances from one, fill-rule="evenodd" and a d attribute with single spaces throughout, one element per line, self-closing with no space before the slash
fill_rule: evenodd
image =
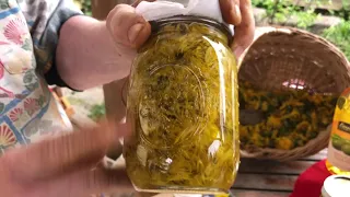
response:
<path id="1" fill-rule="evenodd" d="M 106 24 L 114 40 L 126 47 L 139 48 L 151 34 L 151 25 L 128 4 L 116 5 Z"/>

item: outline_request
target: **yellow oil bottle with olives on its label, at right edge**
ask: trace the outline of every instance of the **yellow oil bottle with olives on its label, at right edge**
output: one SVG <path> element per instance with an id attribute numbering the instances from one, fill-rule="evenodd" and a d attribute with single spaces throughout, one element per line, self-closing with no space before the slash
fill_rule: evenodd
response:
<path id="1" fill-rule="evenodd" d="M 350 88 L 337 102 L 326 166 L 332 174 L 350 175 Z"/>

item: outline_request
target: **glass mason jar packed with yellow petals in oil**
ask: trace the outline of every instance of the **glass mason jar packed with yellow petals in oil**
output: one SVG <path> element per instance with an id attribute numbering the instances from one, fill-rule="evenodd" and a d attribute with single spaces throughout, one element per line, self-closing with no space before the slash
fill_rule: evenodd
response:
<path id="1" fill-rule="evenodd" d="M 195 16 L 151 25 L 129 82 L 128 175 L 139 192 L 228 193 L 240 163 L 232 34 Z"/>

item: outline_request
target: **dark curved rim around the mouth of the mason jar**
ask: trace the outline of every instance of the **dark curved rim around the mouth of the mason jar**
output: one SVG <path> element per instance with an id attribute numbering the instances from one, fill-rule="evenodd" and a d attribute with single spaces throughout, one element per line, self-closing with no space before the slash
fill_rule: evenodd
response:
<path id="1" fill-rule="evenodd" d="M 207 24 L 209 26 L 212 26 L 225 34 L 228 37 L 229 44 L 231 45 L 233 42 L 233 34 L 230 31 L 230 27 L 225 23 L 220 23 L 215 20 L 212 20 L 210 18 L 205 16 L 196 16 L 196 15 L 175 15 L 170 18 L 164 18 L 155 21 L 150 21 L 152 33 L 158 32 L 160 27 L 164 26 L 168 23 L 190 23 L 190 22 L 198 22 L 202 24 Z"/>

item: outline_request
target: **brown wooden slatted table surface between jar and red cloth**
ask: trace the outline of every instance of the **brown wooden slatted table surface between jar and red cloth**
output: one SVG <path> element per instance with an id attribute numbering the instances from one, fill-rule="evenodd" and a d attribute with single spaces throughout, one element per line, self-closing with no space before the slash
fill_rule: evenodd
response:
<path id="1" fill-rule="evenodd" d="M 234 197 L 288 197 L 299 175 L 326 157 L 325 149 L 313 157 L 284 163 L 242 159 L 232 193 Z"/>

